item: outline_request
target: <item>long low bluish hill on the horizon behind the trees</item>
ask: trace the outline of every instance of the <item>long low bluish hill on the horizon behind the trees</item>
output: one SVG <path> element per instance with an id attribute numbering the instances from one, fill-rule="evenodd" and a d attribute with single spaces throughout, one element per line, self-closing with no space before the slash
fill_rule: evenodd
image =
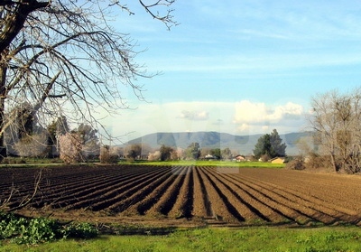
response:
<path id="1" fill-rule="evenodd" d="M 289 133 L 280 135 L 282 142 L 287 145 L 286 153 L 298 154 L 296 142 L 301 138 L 310 135 L 308 132 Z M 258 135 L 231 135 L 218 132 L 179 132 L 179 133 L 153 133 L 135 138 L 127 145 L 143 144 L 152 148 L 159 148 L 162 145 L 171 147 L 187 148 L 191 143 L 199 143 L 201 148 L 230 148 L 237 150 L 239 154 L 253 154 L 253 149 L 258 141 Z"/>

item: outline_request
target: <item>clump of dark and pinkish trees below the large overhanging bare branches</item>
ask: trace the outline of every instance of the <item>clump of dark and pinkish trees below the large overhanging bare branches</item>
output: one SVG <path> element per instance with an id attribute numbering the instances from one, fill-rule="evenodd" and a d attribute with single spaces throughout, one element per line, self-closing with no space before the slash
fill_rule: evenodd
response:
<path id="1" fill-rule="evenodd" d="M 49 125 L 42 126 L 30 109 L 29 113 L 26 111 L 28 106 L 24 103 L 10 112 L 19 115 L 5 131 L 7 156 L 60 157 L 66 162 L 98 157 L 97 129 L 87 124 L 70 129 L 66 117 L 58 117 Z"/>

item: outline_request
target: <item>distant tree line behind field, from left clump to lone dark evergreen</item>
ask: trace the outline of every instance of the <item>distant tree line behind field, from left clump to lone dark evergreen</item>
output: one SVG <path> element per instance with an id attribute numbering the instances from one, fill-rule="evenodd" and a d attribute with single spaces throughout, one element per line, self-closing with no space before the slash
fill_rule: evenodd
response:
<path id="1" fill-rule="evenodd" d="M 26 113 L 27 104 L 21 104 L 11 113 L 19 113 L 16 121 L 5 132 L 7 155 L 21 157 L 60 157 L 65 163 L 79 163 L 98 159 L 102 163 L 116 163 L 119 158 L 130 161 L 148 159 L 152 161 L 170 160 L 231 160 L 238 153 L 229 148 L 201 148 L 199 143 L 191 143 L 187 148 L 162 145 L 153 150 L 142 144 L 119 146 L 101 145 L 97 129 L 80 124 L 70 129 L 66 117 L 58 117 L 47 126 L 42 126 L 37 117 Z M 18 112 L 20 111 L 20 112 Z M 24 112 L 25 111 L 25 112 Z M 31 109 L 29 108 L 29 111 Z M 273 156 L 285 155 L 285 144 L 274 129 L 263 135 L 255 145 L 255 159 L 264 161 Z M 265 158 L 267 157 L 267 158 Z"/>

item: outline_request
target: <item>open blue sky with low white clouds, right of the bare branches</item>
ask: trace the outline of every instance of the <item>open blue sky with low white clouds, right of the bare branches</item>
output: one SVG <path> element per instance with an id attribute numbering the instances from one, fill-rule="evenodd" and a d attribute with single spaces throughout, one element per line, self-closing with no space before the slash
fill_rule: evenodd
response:
<path id="1" fill-rule="evenodd" d="M 171 31 L 128 7 L 116 30 L 143 51 L 137 63 L 162 73 L 134 81 L 146 102 L 125 90 L 134 109 L 103 119 L 113 135 L 300 132 L 311 98 L 361 84 L 360 1 L 177 0 Z"/>

